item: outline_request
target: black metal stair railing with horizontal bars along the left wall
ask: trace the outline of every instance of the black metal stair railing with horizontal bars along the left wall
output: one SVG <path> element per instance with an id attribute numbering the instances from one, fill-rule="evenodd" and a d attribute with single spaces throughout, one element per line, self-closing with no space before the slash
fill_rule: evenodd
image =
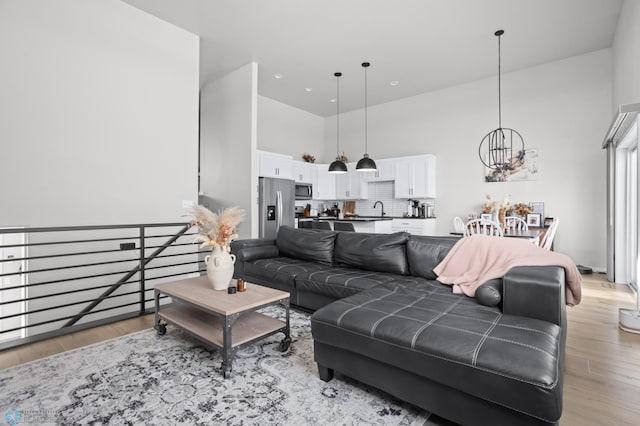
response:
<path id="1" fill-rule="evenodd" d="M 204 270 L 184 223 L 0 228 L 0 350 L 153 311 Z"/>

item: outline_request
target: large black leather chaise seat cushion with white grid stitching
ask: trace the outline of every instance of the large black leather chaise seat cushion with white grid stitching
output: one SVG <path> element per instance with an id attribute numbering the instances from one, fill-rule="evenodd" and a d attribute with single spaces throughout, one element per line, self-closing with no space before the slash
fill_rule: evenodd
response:
<path id="1" fill-rule="evenodd" d="M 464 295 L 377 287 L 317 310 L 311 330 L 314 341 L 550 423 L 562 412 L 562 331 L 547 321 Z"/>

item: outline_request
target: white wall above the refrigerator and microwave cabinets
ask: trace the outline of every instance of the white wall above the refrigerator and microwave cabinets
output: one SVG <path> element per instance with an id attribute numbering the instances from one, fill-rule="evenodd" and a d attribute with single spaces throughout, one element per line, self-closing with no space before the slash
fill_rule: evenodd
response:
<path id="1" fill-rule="evenodd" d="M 324 118 L 264 96 L 258 96 L 258 149 L 292 155 L 324 153 Z M 335 157 L 335 150 L 334 150 Z"/>

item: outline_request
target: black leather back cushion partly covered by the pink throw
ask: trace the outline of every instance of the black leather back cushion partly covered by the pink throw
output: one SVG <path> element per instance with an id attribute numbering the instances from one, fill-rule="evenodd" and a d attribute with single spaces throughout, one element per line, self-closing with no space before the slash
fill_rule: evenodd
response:
<path id="1" fill-rule="evenodd" d="M 433 268 L 449 253 L 459 237 L 430 237 L 411 235 L 407 241 L 407 261 L 411 275 L 435 280 Z"/>

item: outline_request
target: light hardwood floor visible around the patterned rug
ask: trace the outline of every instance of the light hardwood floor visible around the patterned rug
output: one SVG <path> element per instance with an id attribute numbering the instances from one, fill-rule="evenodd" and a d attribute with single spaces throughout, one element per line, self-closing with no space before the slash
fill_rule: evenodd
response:
<path id="1" fill-rule="evenodd" d="M 618 328 L 632 292 L 604 275 L 585 275 L 582 303 L 568 308 L 562 425 L 640 424 L 640 335 Z M 0 352 L 0 369 L 153 326 L 153 315 Z"/>

